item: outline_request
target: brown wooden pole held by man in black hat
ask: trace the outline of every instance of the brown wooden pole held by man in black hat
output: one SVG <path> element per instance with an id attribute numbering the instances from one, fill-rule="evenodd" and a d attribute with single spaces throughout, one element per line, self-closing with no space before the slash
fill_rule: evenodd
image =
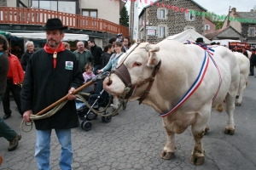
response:
<path id="1" fill-rule="evenodd" d="M 83 86 L 77 88 L 73 94 L 78 94 L 80 91 L 82 91 L 84 88 L 89 87 L 91 84 L 93 84 L 94 82 L 92 82 L 92 80 L 90 82 L 86 82 Z M 59 99 L 58 101 L 56 101 L 54 104 L 49 105 L 48 107 L 46 107 L 43 111 L 38 112 L 36 115 L 40 116 L 43 115 L 44 112 L 49 111 L 51 109 L 53 109 L 56 105 L 60 105 L 63 101 L 67 100 L 67 95 L 61 99 Z"/>

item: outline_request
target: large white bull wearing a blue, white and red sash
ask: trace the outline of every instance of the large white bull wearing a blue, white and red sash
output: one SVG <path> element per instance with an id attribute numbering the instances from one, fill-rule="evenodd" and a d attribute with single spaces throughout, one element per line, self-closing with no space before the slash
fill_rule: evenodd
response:
<path id="1" fill-rule="evenodd" d="M 230 134 L 235 132 L 233 114 L 239 84 L 239 66 L 237 59 L 234 59 L 234 54 L 228 48 L 221 46 L 218 48 L 222 51 L 222 55 L 214 54 L 213 58 L 222 77 L 219 91 L 218 69 L 209 59 L 205 77 L 199 88 L 176 111 L 162 118 L 167 133 L 166 145 L 160 153 L 163 159 L 171 159 L 174 155 L 175 133 L 183 133 L 191 125 L 195 146 L 189 161 L 196 165 L 203 164 L 204 150 L 201 139 L 204 135 L 204 128 L 211 115 L 212 107 L 222 105 L 224 99 L 229 116 L 225 132 Z M 152 88 L 143 100 L 143 104 L 152 106 L 158 113 L 171 111 L 183 98 L 198 77 L 206 54 L 205 50 L 197 45 L 184 45 L 173 40 L 165 40 L 158 44 L 143 42 L 138 47 L 131 48 L 129 52 L 131 54 L 126 59 L 125 55 L 127 54 L 121 56 L 119 65 L 124 61 L 133 85 L 150 77 L 154 67 L 161 60 L 160 69 L 154 77 Z M 104 80 L 104 89 L 109 94 L 124 96 L 124 89 L 127 88 L 119 77 L 116 73 L 112 73 L 109 78 Z M 133 91 L 129 98 L 130 101 L 140 99 L 148 88 L 148 82 L 143 85 L 140 83 L 140 85 L 140 88 L 135 88 Z M 212 103 L 212 98 L 217 91 L 217 98 Z"/>

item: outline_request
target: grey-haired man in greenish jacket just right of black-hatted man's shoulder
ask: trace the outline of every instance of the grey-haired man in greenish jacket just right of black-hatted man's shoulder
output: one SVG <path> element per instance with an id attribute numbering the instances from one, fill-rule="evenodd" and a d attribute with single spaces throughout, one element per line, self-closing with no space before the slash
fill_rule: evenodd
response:
<path id="1" fill-rule="evenodd" d="M 77 42 L 78 49 L 73 52 L 77 59 L 79 60 L 80 69 L 82 72 L 84 72 L 84 66 L 87 63 L 91 63 L 91 65 L 94 65 L 94 58 L 89 50 L 84 48 L 84 42 Z"/>

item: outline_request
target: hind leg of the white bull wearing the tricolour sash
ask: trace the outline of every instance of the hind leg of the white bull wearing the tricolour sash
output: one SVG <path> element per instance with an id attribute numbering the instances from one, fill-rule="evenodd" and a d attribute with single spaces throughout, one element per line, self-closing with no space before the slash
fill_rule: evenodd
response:
<path id="1" fill-rule="evenodd" d="M 228 93 L 226 96 L 226 112 L 228 121 L 224 133 L 233 135 L 235 133 L 234 111 L 235 111 L 235 95 Z"/>

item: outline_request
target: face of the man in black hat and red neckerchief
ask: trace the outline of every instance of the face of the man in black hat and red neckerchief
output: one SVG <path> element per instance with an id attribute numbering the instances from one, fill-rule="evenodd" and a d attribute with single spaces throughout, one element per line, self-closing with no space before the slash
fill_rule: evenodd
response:
<path id="1" fill-rule="evenodd" d="M 64 33 L 60 34 L 59 30 L 47 30 L 46 38 L 49 47 L 55 48 L 61 42 L 61 39 L 64 37 Z"/>

